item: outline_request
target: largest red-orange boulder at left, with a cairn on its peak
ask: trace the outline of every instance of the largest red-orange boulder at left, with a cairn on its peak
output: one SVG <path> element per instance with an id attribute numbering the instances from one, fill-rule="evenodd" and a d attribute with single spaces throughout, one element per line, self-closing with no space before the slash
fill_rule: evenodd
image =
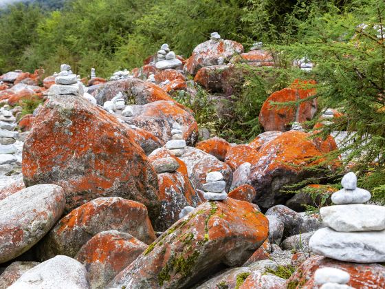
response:
<path id="1" fill-rule="evenodd" d="M 26 186 L 63 187 L 66 210 L 97 197 L 119 196 L 159 214 L 157 176 L 132 131 L 79 96 L 52 95 L 23 146 Z"/>

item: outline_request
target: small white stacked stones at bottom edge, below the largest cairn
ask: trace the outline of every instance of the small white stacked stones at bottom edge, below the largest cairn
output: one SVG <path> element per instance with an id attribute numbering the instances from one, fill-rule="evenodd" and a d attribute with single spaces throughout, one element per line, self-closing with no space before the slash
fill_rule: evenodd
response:
<path id="1" fill-rule="evenodd" d="M 314 282 L 320 286 L 320 289 L 350 289 L 351 286 L 346 285 L 350 280 L 348 272 L 333 268 L 322 267 L 314 272 Z"/>

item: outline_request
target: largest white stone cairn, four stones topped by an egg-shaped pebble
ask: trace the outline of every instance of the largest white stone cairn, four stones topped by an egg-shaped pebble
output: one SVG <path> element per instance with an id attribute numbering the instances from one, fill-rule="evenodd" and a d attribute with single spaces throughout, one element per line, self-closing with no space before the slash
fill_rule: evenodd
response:
<path id="1" fill-rule="evenodd" d="M 333 193 L 336 206 L 320 208 L 327 226 L 309 240 L 314 253 L 340 261 L 355 263 L 385 262 L 385 206 L 364 204 L 371 193 L 357 187 L 357 177 L 347 173 L 344 189 Z"/>

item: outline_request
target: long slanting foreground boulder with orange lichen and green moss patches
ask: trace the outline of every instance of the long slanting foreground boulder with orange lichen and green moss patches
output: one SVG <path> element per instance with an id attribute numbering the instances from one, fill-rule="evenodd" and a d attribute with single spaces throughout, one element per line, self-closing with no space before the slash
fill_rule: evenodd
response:
<path id="1" fill-rule="evenodd" d="M 188 288 L 221 266 L 240 266 L 267 239 L 267 219 L 248 202 L 205 202 L 164 232 L 109 288 Z"/>

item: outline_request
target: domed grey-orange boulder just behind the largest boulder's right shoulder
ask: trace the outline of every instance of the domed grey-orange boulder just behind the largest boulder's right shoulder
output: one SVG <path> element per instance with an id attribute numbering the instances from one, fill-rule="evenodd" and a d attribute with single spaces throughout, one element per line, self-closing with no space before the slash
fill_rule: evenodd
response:
<path id="1" fill-rule="evenodd" d="M 181 125 L 186 143 L 194 145 L 197 142 L 198 125 L 194 116 L 171 101 L 159 100 L 135 107 L 134 116 L 124 118 L 124 120 L 129 125 L 135 125 L 135 127 L 153 133 L 163 142 L 171 140 L 173 124 L 177 122 Z"/>

